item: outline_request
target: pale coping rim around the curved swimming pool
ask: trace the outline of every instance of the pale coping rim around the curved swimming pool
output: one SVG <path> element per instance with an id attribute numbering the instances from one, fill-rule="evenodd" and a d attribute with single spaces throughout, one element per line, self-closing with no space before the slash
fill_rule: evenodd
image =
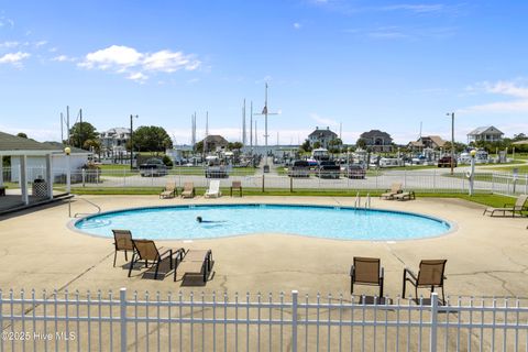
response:
<path id="1" fill-rule="evenodd" d="M 443 238 L 446 235 L 450 235 L 457 230 L 459 230 L 459 226 L 455 221 L 452 220 L 446 220 L 432 215 L 428 213 L 421 213 L 421 212 L 411 212 L 411 211 L 404 211 L 404 210 L 394 210 L 394 209 L 387 209 L 387 208 L 359 208 L 359 207 L 350 207 L 350 206 L 331 206 L 331 205 L 308 205 L 308 204 L 275 204 L 275 202 L 244 202 L 244 204 L 193 204 L 193 205 L 169 205 L 169 206 L 147 206 L 147 207 L 132 207 L 132 208 L 122 208 L 122 209 L 117 209 L 117 210 L 109 210 L 109 211 L 103 211 L 95 215 L 88 215 L 82 218 L 78 219 L 73 219 L 67 222 L 66 227 L 77 233 L 84 234 L 84 235 L 89 235 L 92 238 L 97 239 L 112 239 L 111 237 L 103 237 L 103 235 L 98 235 L 95 233 L 89 233 L 81 231 L 78 229 L 75 224 L 79 221 L 90 219 L 90 218 L 96 218 L 102 215 L 111 215 L 111 213 L 117 213 L 117 212 L 125 212 L 125 211 L 131 211 L 131 210 L 148 210 L 148 209 L 165 209 L 165 208 L 199 208 L 199 207 L 244 207 L 244 206 L 278 206 L 278 207 L 292 207 L 292 208 L 302 208 L 302 207 L 309 207 L 309 208 L 326 208 L 326 209 L 348 209 L 348 210 L 369 210 L 369 211 L 378 211 L 378 212 L 392 212 L 392 213 L 400 213 L 400 215 L 407 215 L 407 216 L 414 216 L 414 217 L 421 217 L 421 218 L 427 218 L 430 220 L 435 220 L 438 222 L 442 222 L 444 224 L 449 226 L 449 230 L 446 232 L 442 232 L 440 234 L 435 234 L 435 235 L 429 235 L 426 238 L 416 238 L 416 239 L 384 239 L 384 240 L 366 240 L 366 239 L 336 239 L 336 238 L 322 238 L 322 237 L 317 237 L 317 235 L 307 235 L 307 234 L 299 234 L 299 233 L 287 233 L 287 232 L 252 232 L 252 233 L 239 233 L 239 234 L 228 234 L 228 235 L 222 235 L 220 238 L 204 238 L 204 239 L 156 239 L 155 241 L 182 241 L 184 243 L 191 243 L 195 241 L 210 241 L 210 240 L 221 240 L 221 239 L 229 239 L 229 238 L 240 238 L 240 237 L 246 237 L 246 235 L 262 235 L 265 233 L 270 234 L 278 234 L 278 235 L 296 235 L 300 238 L 310 238 L 310 239 L 318 239 L 318 240 L 330 240 L 330 241 L 363 241 L 363 242 L 376 242 L 376 243 L 396 243 L 396 242 L 407 242 L 407 241 L 424 241 L 424 240 L 431 240 L 431 239 L 438 239 L 438 238 Z"/>

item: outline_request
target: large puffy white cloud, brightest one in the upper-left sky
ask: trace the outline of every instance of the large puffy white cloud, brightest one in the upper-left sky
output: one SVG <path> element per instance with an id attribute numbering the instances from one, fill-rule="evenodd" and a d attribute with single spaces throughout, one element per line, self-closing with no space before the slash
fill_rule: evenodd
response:
<path id="1" fill-rule="evenodd" d="M 168 50 L 155 53 L 141 53 L 133 47 L 112 45 L 86 55 L 78 64 L 88 69 L 113 70 L 125 74 L 127 78 L 144 81 L 148 78 L 144 72 L 175 73 L 180 69 L 195 70 L 201 63 L 194 55 Z"/>

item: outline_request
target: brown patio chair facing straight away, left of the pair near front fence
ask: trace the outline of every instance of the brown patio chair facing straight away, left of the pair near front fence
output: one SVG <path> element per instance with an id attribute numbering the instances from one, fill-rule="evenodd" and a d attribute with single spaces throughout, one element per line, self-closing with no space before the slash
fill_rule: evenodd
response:
<path id="1" fill-rule="evenodd" d="M 350 267 L 350 293 L 354 293 L 354 284 L 380 286 L 380 297 L 383 297 L 383 273 L 380 258 L 354 256 Z"/>

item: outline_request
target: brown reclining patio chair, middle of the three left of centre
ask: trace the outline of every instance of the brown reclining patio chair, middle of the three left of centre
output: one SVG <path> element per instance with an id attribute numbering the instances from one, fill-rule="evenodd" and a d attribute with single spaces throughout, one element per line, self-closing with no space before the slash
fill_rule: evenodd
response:
<path id="1" fill-rule="evenodd" d="M 150 267 L 154 271 L 154 278 L 157 278 L 160 272 L 162 272 L 165 276 L 174 267 L 173 257 L 175 257 L 177 264 L 178 257 L 182 258 L 183 254 L 185 253 L 184 249 L 178 249 L 176 251 L 168 249 L 165 252 L 160 253 L 156 244 L 152 240 L 132 240 L 132 244 L 134 245 L 134 253 L 132 254 L 132 261 L 130 262 L 129 277 L 132 274 L 134 264 L 140 261 L 145 261 L 145 267 L 148 267 L 148 261 L 151 262 Z M 168 270 L 167 262 L 169 267 Z M 160 270 L 161 267 L 162 270 Z"/>

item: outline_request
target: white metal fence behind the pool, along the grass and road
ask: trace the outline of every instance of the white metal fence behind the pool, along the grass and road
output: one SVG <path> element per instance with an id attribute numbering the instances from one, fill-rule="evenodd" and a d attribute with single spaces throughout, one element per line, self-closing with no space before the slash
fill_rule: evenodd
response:
<path id="1" fill-rule="evenodd" d="M 16 173 L 9 168 L 3 172 L 3 180 L 11 182 L 11 187 L 19 183 Z M 466 173 L 457 172 L 450 175 L 446 169 L 391 170 L 381 169 L 369 172 L 364 179 L 318 177 L 288 177 L 277 174 L 249 174 L 246 170 L 234 168 L 229 176 L 220 179 L 221 187 L 229 188 L 233 180 L 240 180 L 245 189 L 255 190 L 317 190 L 317 191 L 380 191 L 391 188 L 393 183 L 402 183 L 405 189 L 419 193 L 468 193 L 470 182 Z M 45 177 L 42 168 L 28 170 L 28 179 Z M 55 170 L 53 175 L 55 188 L 65 188 L 66 170 Z M 174 180 L 177 187 L 193 182 L 195 187 L 206 188 L 209 178 L 200 169 L 178 168 L 164 176 L 141 176 L 136 170 L 75 170 L 72 172 L 73 187 L 84 188 L 163 188 L 167 180 Z M 46 180 L 47 182 L 47 180 Z M 499 172 L 476 172 L 474 182 L 475 191 L 495 193 L 503 195 L 528 194 L 528 174 L 513 175 Z"/>

